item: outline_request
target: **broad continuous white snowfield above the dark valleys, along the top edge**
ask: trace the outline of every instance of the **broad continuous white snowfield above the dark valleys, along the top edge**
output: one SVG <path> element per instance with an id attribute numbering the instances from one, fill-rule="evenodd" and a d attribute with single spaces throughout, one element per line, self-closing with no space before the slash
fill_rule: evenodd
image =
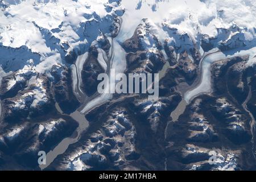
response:
<path id="1" fill-rule="evenodd" d="M 18 71 L 32 60 L 36 72 L 47 73 L 52 65 L 64 64 L 65 56 L 73 51 L 84 54 L 101 32 L 108 35 L 112 15 L 122 15 L 123 10 L 119 42 L 130 38 L 143 18 L 148 18 L 151 32 L 162 43 L 165 40 L 168 45 L 183 49 L 189 49 L 192 44 L 200 49 L 204 35 L 207 35 L 205 42 L 214 38 L 213 47 L 240 46 L 233 43 L 233 39 L 246 44 L 255 42 L 255 1 L 123 0 L 120 3 L 108 0 L 1 1 L 0 63 L 3 70 Z M 234 25 L 239 30 L 232 30 Z M 18 55 L 22 56 L 22 61 L 13 60 Z M 10 86 L 12 84 L 14 82 Z"/>

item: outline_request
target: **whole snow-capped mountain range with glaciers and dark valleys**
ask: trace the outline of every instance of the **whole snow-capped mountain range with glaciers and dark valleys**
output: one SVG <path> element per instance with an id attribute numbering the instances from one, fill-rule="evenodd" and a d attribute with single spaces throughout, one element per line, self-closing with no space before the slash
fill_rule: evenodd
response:
<path id="1" fill-rule="evenodd" d="M 255 16 L 253 0 L 0 0 L 0 169 L 252 169 Z M 111 68 L 159 73 L 159 99 L 98 94 Z"/>

